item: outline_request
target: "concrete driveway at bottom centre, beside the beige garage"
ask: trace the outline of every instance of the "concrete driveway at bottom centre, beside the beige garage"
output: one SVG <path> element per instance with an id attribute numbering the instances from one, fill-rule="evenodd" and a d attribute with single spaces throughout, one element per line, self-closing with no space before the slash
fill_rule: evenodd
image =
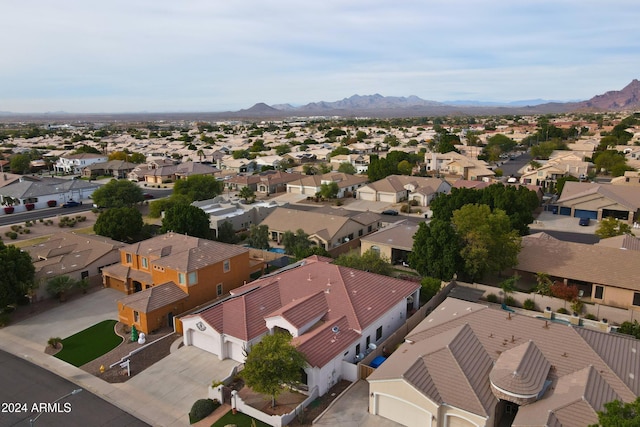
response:
<path id="1" fill-rule="evenodd" d="M 371 415 L 369 408 L 369 383 L 360 380 L 349 386 L 342 396 L 314 421 L 314 426 L 341 427 L 399 427 L 398 424 L 378 415 Z"/>

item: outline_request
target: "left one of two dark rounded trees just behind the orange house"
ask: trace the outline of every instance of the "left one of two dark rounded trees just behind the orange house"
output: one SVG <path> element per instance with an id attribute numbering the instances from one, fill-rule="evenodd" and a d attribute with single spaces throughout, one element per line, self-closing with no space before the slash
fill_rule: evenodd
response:
<path id="1" fill-rule="evenodd" d="M 143 225 L 142 214 L 137 208 L 112 208 L 98 216 L 93 231 L 119 242 L 133 242 L 140 236 Z"/>

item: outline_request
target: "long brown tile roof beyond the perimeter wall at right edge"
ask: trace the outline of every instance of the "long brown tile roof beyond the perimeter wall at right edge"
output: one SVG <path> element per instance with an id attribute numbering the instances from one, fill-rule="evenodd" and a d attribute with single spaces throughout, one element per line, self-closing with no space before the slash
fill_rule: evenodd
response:
<path id="1" fill-rule="evenodd" d="M 640 253 L 601 245 L 525 236 L 517 270 L 640 290 Z"/>

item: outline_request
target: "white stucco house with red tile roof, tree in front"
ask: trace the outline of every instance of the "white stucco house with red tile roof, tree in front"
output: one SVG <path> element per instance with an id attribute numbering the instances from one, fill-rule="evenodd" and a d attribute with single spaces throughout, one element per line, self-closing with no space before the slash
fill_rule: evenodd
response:
<path id="1" fill-rule="evenodd" d="M 287 331 L 307 360 L 303 389 L 323 395 L 341 379 L 355 381 L 357 362 L 417 308 L 420 286 L 330 261 L 306 258 L 181 318 L 185 345 L 242 363 L 263 336 Z"/>

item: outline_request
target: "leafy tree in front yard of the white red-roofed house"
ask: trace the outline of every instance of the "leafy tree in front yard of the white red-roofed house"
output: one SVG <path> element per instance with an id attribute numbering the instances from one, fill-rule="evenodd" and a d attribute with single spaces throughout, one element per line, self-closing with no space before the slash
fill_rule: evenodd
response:
<path id="1" fill-rule="evenodd" d="M 271 396 L 271 406 L 286 386 L 299 383 L 307 365 L 304 355 L 291 344 L 291 335 L 277 332 L 266 335 L 247 354 L 242 378 L 258 393 Z"/>

